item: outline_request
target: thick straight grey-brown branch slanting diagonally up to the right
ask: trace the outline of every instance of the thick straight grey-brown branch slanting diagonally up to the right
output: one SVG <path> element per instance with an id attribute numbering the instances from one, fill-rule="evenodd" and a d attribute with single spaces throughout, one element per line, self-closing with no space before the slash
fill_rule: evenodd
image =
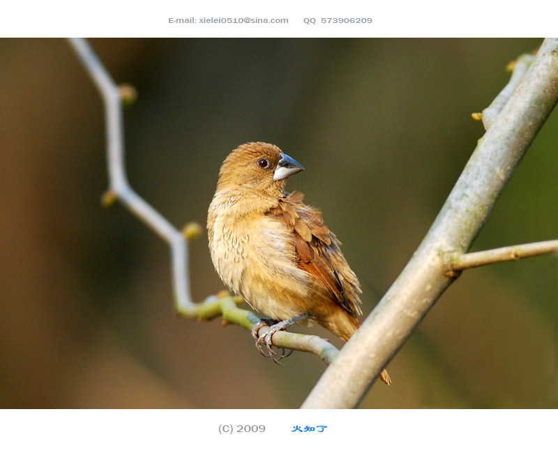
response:
<path id="1" fill-rule="evenodd" d="M 303 408 L 358 406 L 370 385 L 453 279 L 443 256 L 464 253 L 558 101 L 558 39 L 547 38 L 467 162 L 423 242 L 342 348 Z"/>

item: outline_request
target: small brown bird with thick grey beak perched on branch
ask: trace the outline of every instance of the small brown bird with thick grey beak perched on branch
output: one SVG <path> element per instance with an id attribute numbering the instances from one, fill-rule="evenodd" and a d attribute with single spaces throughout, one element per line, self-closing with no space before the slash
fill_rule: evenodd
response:
<path id="1" fill-rule="evenodd" d="M 213 266 L 229 291 L 266 316 L 252 336 L 270 355 L 273 333 L 293 323 L 317 323 L 347 341 L 362 314 L 359 279 L 339 240 L 303 194 L 285 192 L 303 169 L 276 145 L 242 144 L 220 167 L 207 215 Z M 258 336 L 264 324 L 270 328 Z M 380 378 L 391 383 L 385 369 Z"/>

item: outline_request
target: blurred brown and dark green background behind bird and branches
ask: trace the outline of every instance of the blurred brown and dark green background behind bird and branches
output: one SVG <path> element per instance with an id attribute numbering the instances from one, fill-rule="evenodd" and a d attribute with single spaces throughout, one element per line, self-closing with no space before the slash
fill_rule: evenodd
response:
<path id="1" fill-rule="evenodd" d="M 277 144 L 306 166 L 287 188 L 323 210 L 365 314 L 483 135 L 472 112 L 540 43 L 91 40 L 139 92 L 125 120 L 135 190 L 176 227 L 204 225 L 227 153 Z M 324 363 L 294 353 L 278 367 L 239 326 L 177 318 L 167 245 L 122 206 L 101 208 L 102 103 L 68 43 L 3 39 L 0 62 L 0 406 L 299 407 Z M 473 249 L 556 238 L 557 169 L 555 112 Z M 190 248 L 202 300 L 223 285 L 206 236 Z M 389 364 L 393 385 L 374 385 L 361 407 L 557 407 L 557 262 L 464 272 Z"/>

